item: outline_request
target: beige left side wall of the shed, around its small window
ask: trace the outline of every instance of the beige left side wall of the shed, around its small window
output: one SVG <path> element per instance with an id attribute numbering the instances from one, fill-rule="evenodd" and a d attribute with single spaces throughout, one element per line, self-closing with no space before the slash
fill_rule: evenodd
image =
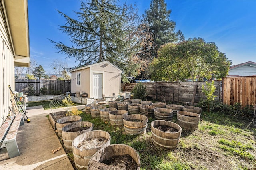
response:
<path id="1" fill-rule="evenodd" d="M 76 73 L 81 73 L 81 84 L 76 85 Z M 71 93 L 76 93 L 76 91 L 81 91 L 88 93 L 90 92 L 90 69 L 83 69 L 79 71 L 74 71 L 71 73 Z M 90 97 L 90 95 L 88 96 Z"/>

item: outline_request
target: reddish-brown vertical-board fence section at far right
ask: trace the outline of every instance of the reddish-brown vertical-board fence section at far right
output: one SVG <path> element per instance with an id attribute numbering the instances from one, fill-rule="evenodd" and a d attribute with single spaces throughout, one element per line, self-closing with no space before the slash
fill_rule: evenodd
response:
<path id="1" fill-rule="evenodd" d="M 256 76 L 223 78 L 224 104 L 241 103 L 242 107 L 256 103 Z"/>

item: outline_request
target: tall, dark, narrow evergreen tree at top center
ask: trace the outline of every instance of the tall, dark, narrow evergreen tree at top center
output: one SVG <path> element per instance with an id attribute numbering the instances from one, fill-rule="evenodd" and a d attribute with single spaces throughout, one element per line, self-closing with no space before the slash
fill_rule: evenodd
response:
<path id="1" fill-rule="evenodd" d="M 164 0 L 151 0 L 150 8 L 143 15 L 152 34 L 154 35 L 154 57 L 157 56 L 157 50 L 161 45 L 169 42 L 175 42 L 177 37 L 174 32 L 175 22 L 169 19 L 171 10 L 166 9 Z"/>

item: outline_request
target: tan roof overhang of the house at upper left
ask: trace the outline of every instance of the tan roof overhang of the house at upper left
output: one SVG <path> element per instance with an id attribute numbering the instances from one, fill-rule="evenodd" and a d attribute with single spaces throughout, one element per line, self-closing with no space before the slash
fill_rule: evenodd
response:
<path id="1" fill-rule="evenodd" d="M 14 66 L 29 67 L 28 1 L 3 0 L 10 41 L 14 52 Z"/>

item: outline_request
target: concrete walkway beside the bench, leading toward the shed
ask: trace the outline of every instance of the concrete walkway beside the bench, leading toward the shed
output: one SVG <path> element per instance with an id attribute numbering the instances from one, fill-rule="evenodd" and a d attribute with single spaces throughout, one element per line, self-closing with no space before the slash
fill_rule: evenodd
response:
<path id="1" fill-rule="evenodd" d="M 77 107 L 82 109 L 84 105 Z M 54 112 L 63 110 L 65 108 L 58 108 L 54 109 Z M 74 169 L 60 144 L 58 136 L 46 117 L 49 113 L 51 113 L 51 110 L 44 110 L 42 106 L 27 107 L 26 115 L 30 119 L 30 123 L 25 121 L 25 125 L 19 127 L 16 137 L 20 156 L 0 161 L 0 170 Z M 52 154 L 51 150 L 58 147 L 61 147 L 61 149 Z"/>

